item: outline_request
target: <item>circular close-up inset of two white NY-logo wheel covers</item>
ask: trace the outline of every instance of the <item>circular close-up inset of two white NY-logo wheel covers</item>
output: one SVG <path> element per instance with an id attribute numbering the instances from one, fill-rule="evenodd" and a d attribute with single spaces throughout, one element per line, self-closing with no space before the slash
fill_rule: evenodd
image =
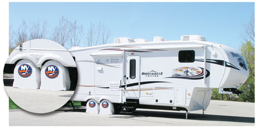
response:
<path id="1" fill-rule="evenodd" d="M 4 86 L 12 101 L 31 113 L 65 105 L 76 89 L 77 67 L 57 42 L 34 39 L 15 48 L 4 66 Z"/>

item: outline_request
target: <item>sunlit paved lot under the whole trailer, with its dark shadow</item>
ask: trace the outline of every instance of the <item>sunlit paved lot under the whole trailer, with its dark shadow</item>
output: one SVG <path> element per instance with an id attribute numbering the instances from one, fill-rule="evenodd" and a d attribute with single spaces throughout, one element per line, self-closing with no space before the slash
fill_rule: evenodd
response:
<path id="1" fill-rule="evenodd" d="M 202 115 L 202 110 L 185 111 L 137 109 L 132 114 L 86 114 L 85 107 L 62 108 L 48 114 L 33 114 L 10 110 L 13 125 L 84 125 L 84 126 L 254 126 L 254 103 L 214 101 Z"/>

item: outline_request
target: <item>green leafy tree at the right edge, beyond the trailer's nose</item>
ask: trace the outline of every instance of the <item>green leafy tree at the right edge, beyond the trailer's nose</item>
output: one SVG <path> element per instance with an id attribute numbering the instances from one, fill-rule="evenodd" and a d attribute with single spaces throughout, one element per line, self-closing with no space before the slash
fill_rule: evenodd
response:
<path id="1" fill-rule="evenodd" d="M 239 101 L 254 102 L 254 44 L 251 41 L 247 41 L 241 45 L 240 51 L 247 63 L 249 77 L 240 88 L 244 93 L 239 95 Z"/>

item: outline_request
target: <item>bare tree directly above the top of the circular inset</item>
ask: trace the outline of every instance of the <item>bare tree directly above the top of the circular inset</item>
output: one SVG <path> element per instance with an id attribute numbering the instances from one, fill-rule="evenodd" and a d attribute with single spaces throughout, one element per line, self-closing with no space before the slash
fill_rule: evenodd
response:
<path id="1" fill-rule="evenodd" d="M 30 36 L 29 36 L 29 40 L 31 39 L 44 39 L 46 38 L 46 29 L 47 29 L 47 21 L 43 21 L 43 23 L 41 23 L 40 21 L 38 21 L 37 23 L 33 22 L 30 23 Z"/>

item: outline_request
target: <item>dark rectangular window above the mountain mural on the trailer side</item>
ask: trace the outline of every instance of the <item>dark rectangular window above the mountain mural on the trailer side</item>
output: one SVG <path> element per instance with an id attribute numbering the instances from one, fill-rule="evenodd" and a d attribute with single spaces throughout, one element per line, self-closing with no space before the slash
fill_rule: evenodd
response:
<path id="1" fill-rule="evenodd" d="M 194 50 L 180 50 L 179 51 L 179 62 L 180 63 L 195 62 L 195 51 Z"/>

